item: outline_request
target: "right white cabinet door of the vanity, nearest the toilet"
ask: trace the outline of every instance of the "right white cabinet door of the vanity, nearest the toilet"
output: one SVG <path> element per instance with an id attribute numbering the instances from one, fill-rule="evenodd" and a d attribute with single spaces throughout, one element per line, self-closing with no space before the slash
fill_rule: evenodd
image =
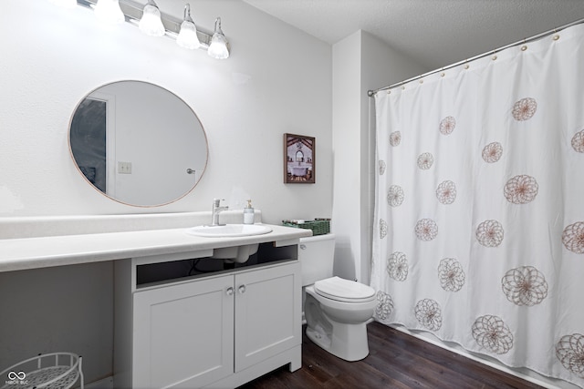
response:
<path id="1" fill-rule="evenodd" d="M 300 264 L 235 275 L 235 372 L 302 343 Z"/>

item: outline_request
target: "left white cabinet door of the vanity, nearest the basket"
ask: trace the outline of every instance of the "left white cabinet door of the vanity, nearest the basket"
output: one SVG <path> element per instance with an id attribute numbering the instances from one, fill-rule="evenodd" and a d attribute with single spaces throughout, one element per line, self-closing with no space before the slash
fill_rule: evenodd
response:
<path id="1" fill-rule="evenodd" d="M 233 374 L 234 276 L 134 293 L 133 388 L 201 387 Z"/>

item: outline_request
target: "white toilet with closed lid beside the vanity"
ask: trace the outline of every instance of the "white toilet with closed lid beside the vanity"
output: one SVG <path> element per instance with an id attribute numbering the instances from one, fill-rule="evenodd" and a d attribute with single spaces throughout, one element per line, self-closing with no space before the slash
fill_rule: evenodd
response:
<path id="1" fill-rule="evenodd" d="M 332 276 L 334 234 L 301 238 L 298 247 L 308 339 L 346 361 L 365 358 L 366 324 L 377 306 L 375 290 Z"/>

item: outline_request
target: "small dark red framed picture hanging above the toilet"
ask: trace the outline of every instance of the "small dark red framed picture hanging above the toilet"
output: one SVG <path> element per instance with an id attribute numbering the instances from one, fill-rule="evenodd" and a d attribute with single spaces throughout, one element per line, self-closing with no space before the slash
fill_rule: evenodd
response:
<path id="1" fill-rule="evenodd" d="M 284 183 L 316 182 L 316 138 L 284 134 Z"/>

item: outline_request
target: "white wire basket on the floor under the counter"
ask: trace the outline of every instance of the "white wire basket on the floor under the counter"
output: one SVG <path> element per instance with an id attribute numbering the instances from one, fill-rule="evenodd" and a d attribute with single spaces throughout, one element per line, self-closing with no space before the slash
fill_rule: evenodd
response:
<path id="1" fill-rule="evenodd" d="M 68 389 L 78 380 L 83 389 L 81 357 L 74 353 L 39 354 L 8 367 L 0 377 L 5 377 L 0 389 Z"/>

